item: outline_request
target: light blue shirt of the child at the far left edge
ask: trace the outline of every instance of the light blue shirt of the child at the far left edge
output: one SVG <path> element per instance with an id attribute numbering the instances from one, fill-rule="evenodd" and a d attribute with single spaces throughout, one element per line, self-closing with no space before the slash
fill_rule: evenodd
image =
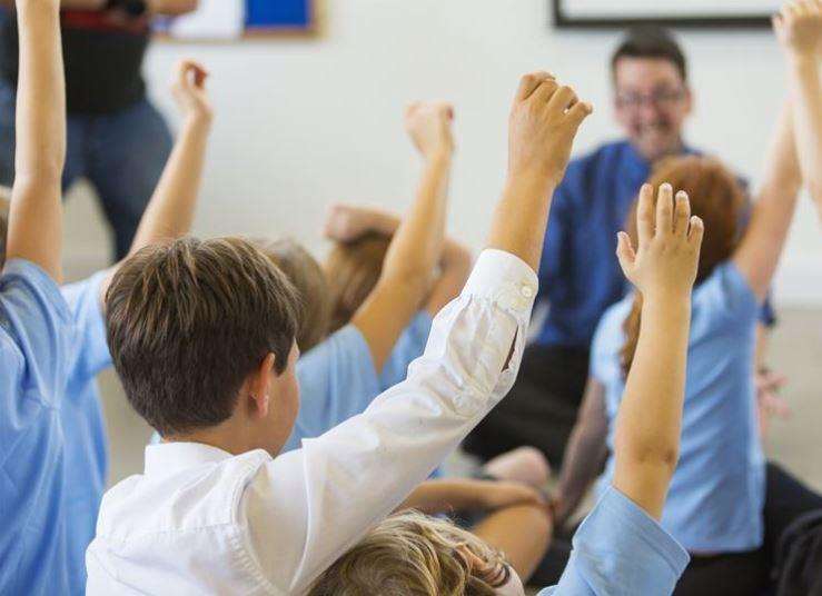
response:
<path id="1" fill-rule="evenodd" d="M 55 281 L 22 259 L 0 276 L 0 594 L 71 594 L 66 433 L 73 350 Z"/>

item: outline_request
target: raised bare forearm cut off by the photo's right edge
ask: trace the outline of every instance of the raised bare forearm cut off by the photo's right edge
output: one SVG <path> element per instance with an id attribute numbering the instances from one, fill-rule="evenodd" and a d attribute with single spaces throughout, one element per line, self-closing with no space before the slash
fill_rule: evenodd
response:
<path id="1" fill-rule="evenodd" d="M 822 83 L 816 56 L 793 56 L 790 60 L 794 133 L 802 177 L 822 209 Z"/>

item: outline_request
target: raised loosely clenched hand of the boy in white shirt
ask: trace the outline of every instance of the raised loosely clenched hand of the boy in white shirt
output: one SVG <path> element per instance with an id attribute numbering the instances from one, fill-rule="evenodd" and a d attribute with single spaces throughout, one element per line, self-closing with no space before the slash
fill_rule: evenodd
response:
<path id="1" fill-rule="evenodd" d="M 593 111 L 571 87 L 553 74 L 524 76 L 508 123 L 508 178 L 538 177 L 553 186 L 562 181 L 571 147 L 585 118 Z"/>

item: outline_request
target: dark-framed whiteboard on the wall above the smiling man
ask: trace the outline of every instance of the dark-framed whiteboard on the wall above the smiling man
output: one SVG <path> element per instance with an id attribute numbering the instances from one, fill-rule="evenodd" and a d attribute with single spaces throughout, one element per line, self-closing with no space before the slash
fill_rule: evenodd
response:
<path id="1" fill-rule="evenodd" d="M 556 27 L 770 27 L 779 0 L 548 0 Z"/>

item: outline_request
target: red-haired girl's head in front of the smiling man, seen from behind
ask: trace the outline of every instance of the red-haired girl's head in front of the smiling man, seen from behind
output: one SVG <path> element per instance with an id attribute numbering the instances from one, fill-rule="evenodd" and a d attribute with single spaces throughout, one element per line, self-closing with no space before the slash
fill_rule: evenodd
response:
<path id="1" fill-rule="evenodd" d="M 705 235 L 700 251 L 696 284 L 711 276 L 717 265 L 733 255 L 740 241 L 745 193 L 736 177 L 720 161 L 700 156 L 686 156 L 663 160 L 647 183 L 658 188 L 669 182 L 674 191 L 684 190 L 691 199 L 691 212 L 702 218 Z M 636 201 L 627 220 L 631 241 L 637 246 Z M 625 319 L 625 345 L 622 350 L 623 371 L 627 374 L 636 351 L 640 336 L 641 297 Z"/>

